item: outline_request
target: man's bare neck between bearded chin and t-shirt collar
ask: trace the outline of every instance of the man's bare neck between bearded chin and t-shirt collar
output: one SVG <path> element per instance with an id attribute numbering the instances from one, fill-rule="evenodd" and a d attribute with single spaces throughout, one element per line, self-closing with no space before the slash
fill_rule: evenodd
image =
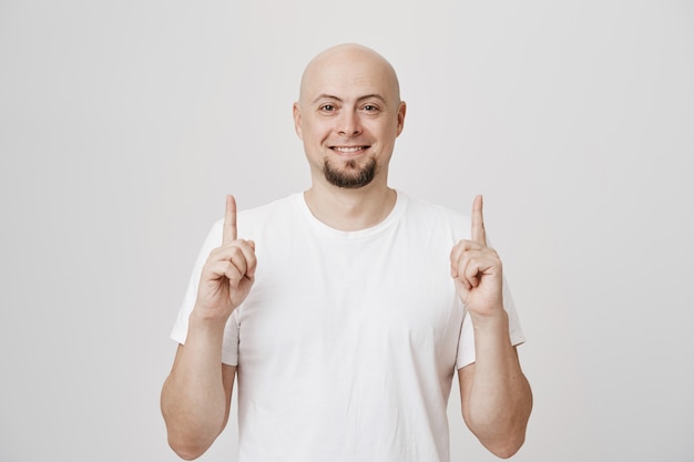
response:
<path id="1" fill-rule="evenodd" d="M 317 219 L 331 228 L 349 232 L 382 222 L 395 207 L 397 194 L 387 186 L 345 189 L 314 184 L 304 193 L 304 198 Z"/>

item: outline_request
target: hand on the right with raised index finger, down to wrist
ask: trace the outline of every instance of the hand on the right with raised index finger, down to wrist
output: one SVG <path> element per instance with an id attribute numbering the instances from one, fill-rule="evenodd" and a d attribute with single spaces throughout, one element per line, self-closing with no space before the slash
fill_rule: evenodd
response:
<path id="1" fill-rule="evenodd" d="M 503 311 L 501 259 L 487 247 L 482 196 L 472 203 L 470 240 L 460 240 L 450 253 L 451 276 L 458 296 L 472 316 L 494 316 Z"/>

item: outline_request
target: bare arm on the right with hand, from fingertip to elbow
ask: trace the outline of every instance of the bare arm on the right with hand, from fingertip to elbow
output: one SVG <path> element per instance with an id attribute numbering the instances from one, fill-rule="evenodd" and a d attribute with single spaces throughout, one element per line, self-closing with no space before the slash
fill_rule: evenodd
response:
<path id="1" fill-rule="evenodd" d="M 532 393 L 511 345 L 501 271 L 499 256 L 487 246 L 482 197 L 477 196 L 471 239 L 451 250 L 451 276 L 474 329 L 476 362 L 458 370 L 460 400 L 470 431 L 506 459 L 523 444 Z"/>

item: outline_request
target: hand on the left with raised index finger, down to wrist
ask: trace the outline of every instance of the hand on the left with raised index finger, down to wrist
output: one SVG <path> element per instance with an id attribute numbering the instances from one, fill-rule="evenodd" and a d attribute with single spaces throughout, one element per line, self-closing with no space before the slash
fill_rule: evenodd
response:
<path id="1" fill-rule="evenodd" d="M 197 290 L 195 308 L 205 318 L 226 321 L 253 287 L 255 243 L 236 233 L 236 201 L 226 196 L 222 246 L 210 253 Z"/>

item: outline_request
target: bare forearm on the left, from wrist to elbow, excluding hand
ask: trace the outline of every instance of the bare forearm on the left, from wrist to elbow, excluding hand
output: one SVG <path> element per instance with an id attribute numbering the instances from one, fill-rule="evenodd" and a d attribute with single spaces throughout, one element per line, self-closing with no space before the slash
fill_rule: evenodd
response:
<path id="1" fill-rule="evenodd" d="M 169 441 L 184 459 L 202 454 L 228 418 L 222 373 L 223 335 L 223 322 L 201 319 L 193 310 L 185 346 L 178 348 L 162 390 Z"/>

